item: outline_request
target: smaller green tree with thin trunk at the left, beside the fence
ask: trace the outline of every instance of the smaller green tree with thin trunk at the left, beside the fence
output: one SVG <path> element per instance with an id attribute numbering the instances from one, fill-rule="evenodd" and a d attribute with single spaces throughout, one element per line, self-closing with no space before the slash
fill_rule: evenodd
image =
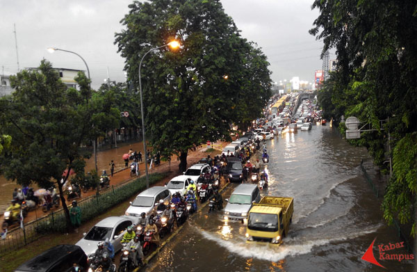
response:
<path id="1" fill-rule="evenodd" d="M 81 145 L 114 127 L 118 117 L 117 110 L 108 106 L 111 102 L 92 93 L 83 72 L 76 81 L 80 91 L 67 89 L 51 63 L 43 60 L 38 70 L 11 77 L 15 92 L 0 99 L 0 124 L 12 137 L 10 147 L 0 155 L 1 173 L 22 186 L 58 186 L 67 227 L 71 224 L 63 183 L 70 170 L 83 175 L 84 159 L 90 153 Z"/>

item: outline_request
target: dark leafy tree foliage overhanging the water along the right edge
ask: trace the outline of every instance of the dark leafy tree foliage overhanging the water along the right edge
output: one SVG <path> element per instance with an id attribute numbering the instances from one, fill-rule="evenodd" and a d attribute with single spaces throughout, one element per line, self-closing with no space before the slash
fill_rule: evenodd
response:
<path id="1" fill-rule="evenodd" d="M 393 175 L 382 209 L 389 223 L 413 223 L 417 191 L 417 3 L 416 1 L 316 0 L 320 15 L 310 33 L 336 49 L 336 72 L 320 90 L 327 114 L 354 115 L 377 131 L 356 144 L 368 147 L 375 163 L 393 159 Z M 382 120 L 382 126 L 381 121 Z M 384 129 L 384 130 L 382 130 Z M 389 138 L 389 141 L 388 141 Z M 391 154 L 384 145 L 391 145 Z"/>

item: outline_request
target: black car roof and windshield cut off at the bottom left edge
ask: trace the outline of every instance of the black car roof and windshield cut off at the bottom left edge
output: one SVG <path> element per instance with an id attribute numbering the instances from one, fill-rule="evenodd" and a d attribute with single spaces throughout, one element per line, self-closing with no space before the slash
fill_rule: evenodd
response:
<path id="1" fill-rule="evenodd" d="M 87 255 L 75 245 L 59 245 L 21 264 L 15 272 L 70 272 L 76 263 L 88 269 Z"/>

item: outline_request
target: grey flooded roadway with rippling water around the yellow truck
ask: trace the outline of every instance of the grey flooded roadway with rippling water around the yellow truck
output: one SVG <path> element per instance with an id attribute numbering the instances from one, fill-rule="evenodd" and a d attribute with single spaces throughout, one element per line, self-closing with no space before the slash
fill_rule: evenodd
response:
<path id="1" fill-rule="evenodd" d="M 384 224 L 381 200 L 362 175 L 361 159 L 370 159 L 365 149 L 326 126 L 284 134 L 267 145 L 270 186 L 263 194 L 294 198 L 293 224 L 281 246 L 246 243 L 243 224 L 225 223 L 220 212 L 207 214 L 205 208 L 146 271 L 412 271 L 411 262 L 379 259 L 378 244 L 400 239 Z M 371 163 L 367 168 L 375 175 Z M 375 238 L 375 258 L 386 270 L 361 260 Z"/>

